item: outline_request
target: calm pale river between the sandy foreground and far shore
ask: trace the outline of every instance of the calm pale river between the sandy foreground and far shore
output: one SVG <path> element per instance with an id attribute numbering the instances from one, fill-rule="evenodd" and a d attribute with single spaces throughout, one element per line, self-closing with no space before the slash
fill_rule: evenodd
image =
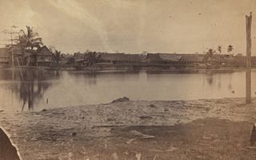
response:
<path id="1" fill-rule="evenodd" d="M 189 100 L 245 97 L 245 71 L 0 70 L 0 110 L 42 110 L 131 100 Z M 256 96 L 256 70 L 252 96 Z"/>

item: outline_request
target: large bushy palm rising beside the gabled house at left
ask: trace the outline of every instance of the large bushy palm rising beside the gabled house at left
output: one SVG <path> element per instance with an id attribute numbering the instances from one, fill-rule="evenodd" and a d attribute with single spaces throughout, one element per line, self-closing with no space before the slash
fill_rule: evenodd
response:
<path id="1" fill-rule="evenodd" d="M 23 54 L 25 52 L 29 54 L 26 65 L 30 65 L 31 55 L 34 54 L 34 49 L 38 49 L 43 45 L 42 38 L 38 37 L 38 33 L 34 32 L 33 27 L 30 26 L 26 26 L 26 32 L 20 30 L 20 33 L 22 34 L 18 37 L 18 46 L 21 47 Z"/>

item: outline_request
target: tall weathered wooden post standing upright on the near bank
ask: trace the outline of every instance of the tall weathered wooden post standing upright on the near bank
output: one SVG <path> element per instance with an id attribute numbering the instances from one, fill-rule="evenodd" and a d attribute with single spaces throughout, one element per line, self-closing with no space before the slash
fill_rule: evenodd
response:
<path id="1" fill-rule="evenodd" d="M 251 19 L 250 16 L 246 15 L 246 103 L 251 102 Z"/>

